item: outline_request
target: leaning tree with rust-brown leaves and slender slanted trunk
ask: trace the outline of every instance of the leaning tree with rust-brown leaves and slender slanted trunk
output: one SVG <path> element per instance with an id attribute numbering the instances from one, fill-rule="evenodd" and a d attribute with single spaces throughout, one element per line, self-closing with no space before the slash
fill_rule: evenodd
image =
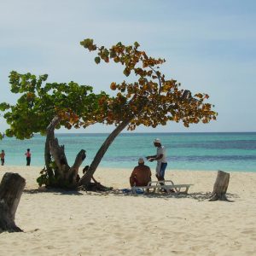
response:
<path id="1" fill-rule="evenodd" d="M 97 46 L 90 38 L 80 44 L 89 51 L 96 51 L 96 64 L 114 61 L 124 66 L 126 77 L 135 79 L 133 83 L 111 83 L 111 90 L 118 91 L 116 96 L 102 96 L 100 103 L 107 113 L 103 122 L 114 124 L 116 128 L 96 153 L 80 183 L 90 182 L 108 147 L 125 127 L 132 131 L 138 125 L 156 127 L 166 125 L 168 121 L 183 121 L 183 125 L 189 127 L 189 124 L 200 121 L 208 123 L 216 119 L 217 113 L 212 111 L 214 106 L 206 102 L 209 97 L 207 94 L 196 93 L 193 96 L 190 90 L 179 89 L 180 84 L 176 80 L 166 79 L 160 73 L 160 65 L 165 60 L 148 56 L 145 51 L 138 49 L 140 45 L 137 42 L 129 46 L 118 43 L 109 49 Z"/>

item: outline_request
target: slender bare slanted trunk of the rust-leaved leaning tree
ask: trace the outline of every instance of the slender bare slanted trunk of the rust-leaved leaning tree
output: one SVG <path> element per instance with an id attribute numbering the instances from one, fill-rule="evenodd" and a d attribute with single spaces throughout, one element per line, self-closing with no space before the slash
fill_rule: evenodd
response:
<path id="1" fill-rule="evenodd" d="M 131 122 L 131 119 L 124 120 L 109 134 L 105 142 L 102 144 L 102 147 L 96 153 L 94 160 L 90 164 L 89 170 L 85 172 L 84 176 L 80 179 L 79 185 L 84 185 L 85 187 L 89 185 L 91 177 L 96 171 L 97 166 L 99 166 L 102 160 L 102 157 L 107 152 L 109 146 L 111 145 L 111 143 L 113 143 L 113 140 L 115 139 L 115 137 L 117 137 L 119 133 L 123 131 L 127 125 L 129 125 L 130 122 Z"/>

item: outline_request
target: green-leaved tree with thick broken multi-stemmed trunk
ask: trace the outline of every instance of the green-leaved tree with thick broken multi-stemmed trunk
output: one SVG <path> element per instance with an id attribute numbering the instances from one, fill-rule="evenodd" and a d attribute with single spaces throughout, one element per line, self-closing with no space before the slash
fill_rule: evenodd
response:
<path id="1" fill-rule="evenodd" d="M 45 167 L 38 177 L 39 185 L 61 188 L 75 188 L 79 183 L 79 166 L 85 159 L 82 149 L 74 160 L 73 166 L 67 163 L 64 146 L 55 138 L 55 129 L 88 126 L 101 121 L 99 99 L 108 98 L 106 93 L 96 95 L 92 87 L 74 82 L 45 83 L 48 75 L 38 78 L 31 74 L 15 71 L 9 75 L 11 92 L 18 94 L 15 105 L 0 104 L 3 117 L 9 124 L 5 131 L 7 137 L 18 139 L 31 138 L 35 133 L 46 135 L 44 146 Z"/>

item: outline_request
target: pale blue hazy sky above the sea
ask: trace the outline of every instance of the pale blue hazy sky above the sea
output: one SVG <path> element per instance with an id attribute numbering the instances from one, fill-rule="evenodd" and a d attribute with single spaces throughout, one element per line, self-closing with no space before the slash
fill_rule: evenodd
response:
<path id="1" fill-rule="evenodd" d="M 211 123 L 169 122 L 137 132 L 256 131 L 256 1 L 0 0 L 0 102 L 15 103 L 9 73 L 49 74 L 110 93 L 125 77 L 117 65 L 94 62 L 79 42 L 133 44 L 166 59 L 160 71 L 183 89 L 205 92 L 218 112 Z M 9 126 L 0 117 L 0 132 Z M 71 132 L 110 132 L 93 125 Z M 61 130 L 67 132 L 67 130 Z"/>

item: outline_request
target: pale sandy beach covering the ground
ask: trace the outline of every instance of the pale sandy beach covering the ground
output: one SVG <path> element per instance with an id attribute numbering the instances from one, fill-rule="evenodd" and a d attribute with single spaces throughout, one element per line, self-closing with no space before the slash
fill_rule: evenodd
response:
<path id="1" fill-rule="evenodd" d="M 193 183 L 189 195 L 38 192 L 39 167 L 0 166 L 26 178 L 15 223 L 0 255 L 256 255 L 256 173 L 230 172 L 228 198 L 209 202 L 217 172 L 166 172 Z M 129 188 L 131 170 L 99 169 L 96 179 Z"/>

